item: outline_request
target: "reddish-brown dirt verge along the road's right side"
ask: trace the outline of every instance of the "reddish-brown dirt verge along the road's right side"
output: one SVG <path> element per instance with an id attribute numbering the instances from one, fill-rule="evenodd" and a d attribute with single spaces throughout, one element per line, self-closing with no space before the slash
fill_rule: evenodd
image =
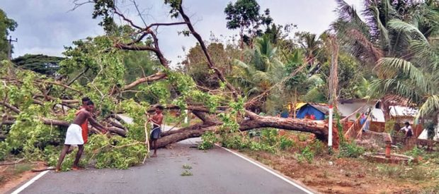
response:
<path id="1" fill-rule="evenodd" d="M 326 156 L 309 164 L 297 162 L 288 153 L 242 152 L 321 193 L 421 193 L 438 185 L 437 180 L 388 178 L 378 172 L 377 164 L 364 159 Z"/>

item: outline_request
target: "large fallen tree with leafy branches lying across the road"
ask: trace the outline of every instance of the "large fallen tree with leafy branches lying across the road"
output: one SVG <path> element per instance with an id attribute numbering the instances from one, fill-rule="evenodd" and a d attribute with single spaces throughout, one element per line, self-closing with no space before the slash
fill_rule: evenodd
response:
<path id="1" fill-rule="evenodd" d="M 215 66 L 203 38 L 186 15 L 181 5 L 182 1 L 165 1 L 165 4 L 171 7 L 171 15 L 178 21 L 149 25 L 145 23 L 145 27 L 140 27 L 127 18 L 113 0 L 75 1 L 75 3 L 76 5 L 95 4 L 93 18 L 102 17 L 102 25 L 106 28 L 114 28 L 114 16 L 118 16 L 128 25 L 123 28 L 120 35 L 89 38 L 75 42 L 74 48 L 67 48 L 64 52 L 67 59 L 60 63 L 59 73 L 62 74 L 60 80 L 45 78 L 38 73 L 16 68 L 7 61 L 1 63 L 0 79 L 3 84 L 0 84 L 2 105 L 0 111 L 4 118 L 1 124 L 11 126 L 6 141 L 0 144 L 0 149 L 4 152 L 21 150 L 32 156 L 46 152 L 45 147 L 50 145 L 50 142 L 62 141 L 64 135 L 62 130 L 65 130 L 69 126 L 69 121 L 74 118 L 74 112 L 79 107 L 78 99 L 88 96 L 97 104 L 98 120 L 108 126 L 111 133 L 126 137 L 125 139 L 112 137 L 108 140 L 99 137 L 101 135 L 93 135 L 96 138 L 91 138 L 87 145 L 91 150 L 91 159 L 96 155 L 105 157 L 103 161 L 108 164 L 104 164 L 105 162 L 98 164 L 101 167 L 125 168 L 137 164 L 142 161 L 140 158 L 147 154 L 147 150 L 139 147 L 144 147 L 145 133 L 149 130 L 144 128 L 144 123 L 147 121 L 144 114 L 152 106 L 147 101 L 127 99 L 124 94 L 130 92 L 136 95 L 139 92 L 152 95 L 161 104 L 166 104 L 167 109 L 178 109 L 182 114 L 184 114 L 183 110 L 190 110 L 203 121 L 163 133 L 158 142 L 160 147 L 187 138 L 200 137 L 207 131 L 216 132 L 220 128 L 229 132 L 278 128 L 314 133 L 319 140 L 327 140 L 328 129 L 324 121 L 259 116 L 247 110 L 246 104 L 255 100 L 243 99 L 239 95 L 241 92 L 236 90 L 222 71 Z M 161 51 L 156 30 L 171 25 L 186 26 L 188 28 L 186 34 L 195 37 L 203 49 L 208 68 L 224 85 L 220 89 L 222 92 L 215 92 L 213 95 L 199 90 L 190 76 L 169 68 L 169 62 Z M 151 51 L 161 66 L 151 75 L 144 75 L 131 83 L 125 83 L 123 80 L 125 66 L 122 60 L 125 51 Z M 85 75 L 86 71 L 91 75 Z M 73 75 L 73 79 L 69 79 L 69 75 Z M 86 83 L 80 83 L 78 80 L 81 78 L 86 79 Z M 270 91 L 264 94 L 268 92 Z M 130 116 L 133 122 L 125 123 L 118 116 L 120 113 Z M 58 130 L 54 130 L 54 127 Z M 336 130 L 333 137 L 338 137 Z M 22 140 L 27 140 L 25 145 L 20 144 Z M 337 140 L 335 139 L 334 142 L 336 145 Z M 127 147 L 135 147 L 132 148 L 135 151 L 122 151 Z M 120 150 L 113 152 L 117 149 Z M 126 158 L 120 158 L 120 152 L 126 154 Z M 0 159 L 2 157 L 5 156 L 0 155 Z M 112 163 L 118 159 L 126 160 L 128 157 L 131 160 L 126 164 L 114 166 Z"/>

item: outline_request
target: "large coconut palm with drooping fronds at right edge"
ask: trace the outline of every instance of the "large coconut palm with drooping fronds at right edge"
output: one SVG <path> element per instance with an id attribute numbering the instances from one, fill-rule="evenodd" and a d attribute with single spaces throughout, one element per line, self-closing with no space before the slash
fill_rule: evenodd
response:
<path id="1" fill-rule="evenodd" d="M 439 108 L 437 37 L 438 1 L 365 1 L 363 20 L 343 0 L 338 2 L 338 20 L 333 23 L 343 49 L 359 61 L 375 66 L 378 80 L 372 82 L 377 97 L 396 94 L 421 104 L 419 116 Z M 439 98 L 437 98 L 439 100 Z M 389 118 L 384 102 L 384 116 Z"/>

